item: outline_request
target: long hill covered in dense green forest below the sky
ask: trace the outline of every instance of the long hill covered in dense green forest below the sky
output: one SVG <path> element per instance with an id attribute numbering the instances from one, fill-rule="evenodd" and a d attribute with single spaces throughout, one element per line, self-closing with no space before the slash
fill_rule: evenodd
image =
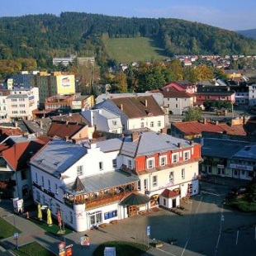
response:
<path id="1" fill-rule="evenodd" d="M 113 37 L 154 38 L 166 55 L 256 53 L 254 40 L 197 22 L 63 12 L 0 18 L 0 59 L 32 58 L 47 66 L 54 56 L 106 57 L 103 42 Z"/>

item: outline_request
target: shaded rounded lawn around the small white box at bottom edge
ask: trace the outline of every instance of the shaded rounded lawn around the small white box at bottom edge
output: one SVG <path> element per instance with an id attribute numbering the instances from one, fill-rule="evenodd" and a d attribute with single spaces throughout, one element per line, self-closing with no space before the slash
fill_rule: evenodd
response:
<path id="1" fill-rule="evenodd" d="M 144 254 L 148 247 L 145 244 L 135 244 L 128 242 L 112 241 L 104 244 L 100 244 L 92 254 L 93 256 L 104 255 L 105 247 L 115 247 L 116 256 L 140 256 Z"/>

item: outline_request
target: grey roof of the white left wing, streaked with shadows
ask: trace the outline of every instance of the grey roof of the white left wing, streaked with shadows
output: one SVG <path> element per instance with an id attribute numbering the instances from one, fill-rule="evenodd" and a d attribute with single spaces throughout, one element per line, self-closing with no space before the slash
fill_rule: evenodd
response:
<path id="1" fill-rule="evenodd" d="M 82 145 L 54 138 L 31 159 L 31 165 L 59 177 L 86 153 L 87 149 Z"/>

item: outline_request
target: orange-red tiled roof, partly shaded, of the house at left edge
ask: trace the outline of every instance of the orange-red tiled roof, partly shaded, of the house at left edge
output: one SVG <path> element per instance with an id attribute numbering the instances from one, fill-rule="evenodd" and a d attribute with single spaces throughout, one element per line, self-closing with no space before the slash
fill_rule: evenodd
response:
<path id="1" fill-rule="evenodd" d="M 32 154 L 36 154 L 43 145 L 45 143 L 41 140 L 15 143 L 8 149 L 2 150 L 0 156 L 12 166 L 14 171 L 18 171 L 27 167 L 27 162 L 31 159 Z"/>

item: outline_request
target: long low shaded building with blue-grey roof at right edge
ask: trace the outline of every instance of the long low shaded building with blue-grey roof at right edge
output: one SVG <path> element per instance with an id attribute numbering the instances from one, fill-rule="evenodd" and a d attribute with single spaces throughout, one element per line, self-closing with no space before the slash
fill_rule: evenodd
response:
<path id="1" fill-rule="evenodd" d="M 223 149 L 223 150 L 221 150 Z M 251 180 L 256 177 L 256 144 L 241 140 L 201 138 L 201 171 Z"/>

